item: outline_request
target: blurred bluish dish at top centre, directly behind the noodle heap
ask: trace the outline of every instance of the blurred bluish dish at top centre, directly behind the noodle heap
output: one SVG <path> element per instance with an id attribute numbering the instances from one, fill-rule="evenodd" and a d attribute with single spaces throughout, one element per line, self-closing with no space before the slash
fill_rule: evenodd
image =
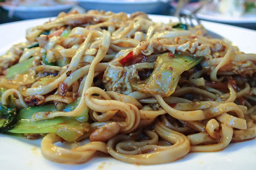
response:
<path id="1" fill-rule="evenodd" d="M 104 10 L 125 13 L 143 11 L 151 14 L 163 14 L 169 8 L 168 0 L 75 0 L 86 10 Z"/>

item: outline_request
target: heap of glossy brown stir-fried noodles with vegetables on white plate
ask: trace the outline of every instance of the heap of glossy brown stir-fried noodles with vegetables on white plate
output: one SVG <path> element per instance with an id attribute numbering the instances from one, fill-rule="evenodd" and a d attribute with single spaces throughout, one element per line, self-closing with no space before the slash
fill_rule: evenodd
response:
<path id="1" fill-rule="evenodd" d="M 0 57 L 0 132 L 44 136 L 42 155 L 69 164 L 161 164 L 255 138 L 256 55 L 179 25 L 75 11 L 28 29 Z"/>

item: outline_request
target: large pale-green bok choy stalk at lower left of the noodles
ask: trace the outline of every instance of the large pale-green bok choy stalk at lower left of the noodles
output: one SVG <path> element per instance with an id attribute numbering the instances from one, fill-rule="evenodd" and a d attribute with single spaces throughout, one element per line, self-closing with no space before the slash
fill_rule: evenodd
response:
<path id="1" fill-rule="evenodd" d="M 63 111 L 74 110 L 77 107 L 79 100 L 80 98 L 73 103 L 67 104 Z M 56 107 L 53 104 L 49 104 L 20 110 L 18 116 L 19 121 L 15 127 L 8 132 L 31 134 L 55 132 L 66 141 L 75 141 L 82 136 L 84 132 L 88 131 L 88 124 L 85 122 L 88 121 L 89 108 L 86 108 L 86 110 L 84 110 L 78 117 L 55 117 L 38 122 L 31 122 L 31 116 L 40 111 L 56 111 Z"/>

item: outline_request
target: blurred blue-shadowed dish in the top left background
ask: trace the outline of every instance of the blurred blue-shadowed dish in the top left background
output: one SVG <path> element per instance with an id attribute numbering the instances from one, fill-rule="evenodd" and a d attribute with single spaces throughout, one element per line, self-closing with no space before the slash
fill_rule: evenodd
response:
<path id="1" fill-rule="evenodd" d="M 28 20 L 33 18 L 56 17 L 61 11 L 68 12 L 74 4 L 60 4 L 55 6 L 9 6 L 2 5 L 4 10 L 13 11 L 13 16 Z"/>

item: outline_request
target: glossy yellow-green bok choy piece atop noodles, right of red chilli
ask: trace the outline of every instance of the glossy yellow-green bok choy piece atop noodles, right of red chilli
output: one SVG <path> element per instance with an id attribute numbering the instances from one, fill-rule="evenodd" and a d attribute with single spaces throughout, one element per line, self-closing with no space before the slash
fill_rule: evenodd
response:
<path id="1" fill-rule="evenodd" d="M 201 60 L 200 57 L 164 53 L 157 57 L 150 77 L 139 83 L 131 81 L 131 86 L 140 92 L 170 96 L 177 87 L 180 74 L 196 66 Z"/>

